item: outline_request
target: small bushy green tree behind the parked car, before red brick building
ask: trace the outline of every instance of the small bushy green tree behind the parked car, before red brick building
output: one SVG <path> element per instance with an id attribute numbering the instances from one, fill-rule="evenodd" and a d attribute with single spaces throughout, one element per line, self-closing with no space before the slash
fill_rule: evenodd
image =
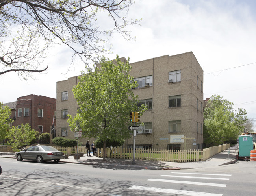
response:
<path id="1" fill-rule="evenodd" d="M 30 145 L 30 142 L 35 139 L 37 131 L 31 129 L 30 125 L 26 123 L 21 124 L 21 128 L 12 127 L 9 130 L 9 142 L 13 151 L 18 152 L 20 148 L 24 145 Z"/>

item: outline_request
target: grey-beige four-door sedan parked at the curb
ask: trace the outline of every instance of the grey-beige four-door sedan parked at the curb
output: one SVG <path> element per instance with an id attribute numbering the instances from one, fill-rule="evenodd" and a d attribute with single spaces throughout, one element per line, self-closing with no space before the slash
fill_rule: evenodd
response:
<path id="1" fill-rule="evenodd" d="M 60 159 L 64 159 L 65 155 L 63 152 L 58 151 L 52 146 L 31 146 L 26 150 L 15 153 L 17 161 L 23 159 L 36 160 L 37 163 L 43 163 L 43 161 L 54 160 L 58 163 Z"/>

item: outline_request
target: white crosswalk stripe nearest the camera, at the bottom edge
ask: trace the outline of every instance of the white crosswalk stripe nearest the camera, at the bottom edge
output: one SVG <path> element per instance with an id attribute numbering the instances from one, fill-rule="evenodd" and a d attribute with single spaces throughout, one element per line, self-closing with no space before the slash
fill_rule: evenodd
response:
<path id="1" fill-rule="evenodd" d="M 175 190 L 175 189 L 161 189 L 156 187 L 142 187 L 142 186 L 132 186 L 129 189 L 135 190 L 147 190 L 152 192 L 162 192 L 169 194 L 178 194 L 178 195 L 190 195 L 190 196 L 222 196 L 222 194 L 208 193 L 208 192 L 195 192 L 189 190 Z"/>

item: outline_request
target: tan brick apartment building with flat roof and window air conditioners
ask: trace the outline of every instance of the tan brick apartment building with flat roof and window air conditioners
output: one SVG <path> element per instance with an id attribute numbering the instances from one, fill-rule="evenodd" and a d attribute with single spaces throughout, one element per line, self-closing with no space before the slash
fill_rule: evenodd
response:
<path id="1" fill-rule="evenodd" d="M 136 148 L 199 149 L 203 145 L 203 70 L 193 52 L 165 55 L 130 63 L 130 75 L 138 87 L 132 89 L 148 111 L 141 116 Z M 57 136 L 74 138 L 67 113 L 74 116 L 78 105 L 72 88 L 78 76 L 57 82 Z M 187 138 L 187 139 L 184 139 Z M 86 139 L 82 142 L 85 144 Z M 124 147 L 132 147 L 132 137 Z"/>

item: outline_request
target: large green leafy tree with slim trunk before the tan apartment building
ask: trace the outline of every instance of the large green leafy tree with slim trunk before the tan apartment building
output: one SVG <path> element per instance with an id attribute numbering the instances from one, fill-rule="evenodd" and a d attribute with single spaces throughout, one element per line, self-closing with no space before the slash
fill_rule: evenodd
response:
<path id="1" fill-rule="evenodd" d="M 129 60 L 129 59 L 128 59 Z M 69 115 L 69 125 L 72 130 L 79 123 L 84 137 L 100 138 L 104 142 L 103 161 L 106 160 L 107 139 L 127 139 L 129 113 L 142 113 L 146 106 L 138 107 L 138 96 L 131 91 L 137 86 L 129 75 L 129 62 L 123 63 L 117 56 L 115 63 L 101 59 L 101 68 L 94 72 L 82 74 L 80 82 L 74 87 L 74 96 L 80 106 L 80 112 L 72 118 Z"/>

